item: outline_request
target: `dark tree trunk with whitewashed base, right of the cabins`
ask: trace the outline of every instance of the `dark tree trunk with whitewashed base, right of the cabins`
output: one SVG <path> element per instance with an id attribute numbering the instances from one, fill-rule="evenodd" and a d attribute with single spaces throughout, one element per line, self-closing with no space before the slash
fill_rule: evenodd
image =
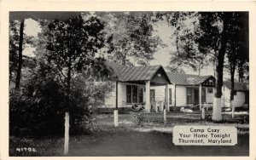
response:
<path id="1" fill-rule="evenodd" d="M 224 30 L 222 32 L 222 37 L 218 43 L 218 56 L 217 56 L 217 66 L 216 66 L 216 92 L 214 94 L 213 100 L 213 111 L 212 111 L 212 120 L 221 121 L 221 96 L 222 96 L 222 86 L 223 86 L 223 69 L 224 69 L 224 54 L 226 52 L 226 28 L 227 24 L 224 20 Z"/>

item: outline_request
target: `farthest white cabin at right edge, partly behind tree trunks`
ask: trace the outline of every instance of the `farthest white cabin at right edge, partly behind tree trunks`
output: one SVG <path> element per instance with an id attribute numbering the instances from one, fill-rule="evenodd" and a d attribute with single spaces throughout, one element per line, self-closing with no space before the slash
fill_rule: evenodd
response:
<path id="1" fill-rule="evenodd" d="M 230 108 L 230 89 L 231 82 L 224 81 L 223 85 L 223 103 L 224 107 Z M 249 84 L 248 83 L 234 83 L 234 106 L 248 108 L 249 106 Z"/>

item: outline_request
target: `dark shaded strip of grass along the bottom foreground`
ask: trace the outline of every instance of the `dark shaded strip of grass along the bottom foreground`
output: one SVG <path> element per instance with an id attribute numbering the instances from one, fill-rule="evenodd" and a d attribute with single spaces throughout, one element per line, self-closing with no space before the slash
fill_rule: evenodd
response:
<path id="1" fill-rule="evenodd" d="M 12 138 L 13 139 L 13 138 Z M 9 156 L 63 156 L 63 140 L 59 137 L 44 140 L 10 140 Z M 68 156 L 248 156 L 249 134 L 238 134 L 236 146 L 175 146 L 171 133 L 138 132 L 127 129 L 101 131 L 93 135 L 70 138 Z M 17 152 L 17 146 L 35 147 L 38 152 Z"/>

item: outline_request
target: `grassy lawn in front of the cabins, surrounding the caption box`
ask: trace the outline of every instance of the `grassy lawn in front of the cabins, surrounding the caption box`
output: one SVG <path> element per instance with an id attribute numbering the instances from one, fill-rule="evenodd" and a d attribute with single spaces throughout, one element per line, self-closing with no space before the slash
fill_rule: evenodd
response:
<path id="1" fill-rule="evenodd" d="M 201 120 L 198 113 L 168 113 L 167 123 L 161 113 L 119 114 L 119 127 L 113 127 L 113 114 L 93 116 L 93 134 L 70 137 L 67 156 L 248 156 L 249 124 L 244 115 L 224 123 Z M 238 129 L 236 146 L 175 146 L 175 125 L 230 125 Z M 34 147 L 37 152 L 15 151 Z M 10 156 L 63 156 L 63 137 L 20 139 L 10 137 Z"/>

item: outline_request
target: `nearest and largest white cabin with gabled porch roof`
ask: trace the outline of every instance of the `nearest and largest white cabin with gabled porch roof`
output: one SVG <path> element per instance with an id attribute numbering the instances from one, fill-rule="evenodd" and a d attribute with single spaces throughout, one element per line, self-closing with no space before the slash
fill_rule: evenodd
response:
<path id="1" fill-rule="evenodd" d="M 151 101 L 153 86 L 162 87 L 164 101 L 169 104 L 171 84 L 162 66 L 122 66 L 114 62 L 106 62 L 109 71 L 115 75 L 114 89 L 105 95 L 106 108 L 125 110 L 132 105 L 143 106 L 144 111 L 152 111 Z"/>

